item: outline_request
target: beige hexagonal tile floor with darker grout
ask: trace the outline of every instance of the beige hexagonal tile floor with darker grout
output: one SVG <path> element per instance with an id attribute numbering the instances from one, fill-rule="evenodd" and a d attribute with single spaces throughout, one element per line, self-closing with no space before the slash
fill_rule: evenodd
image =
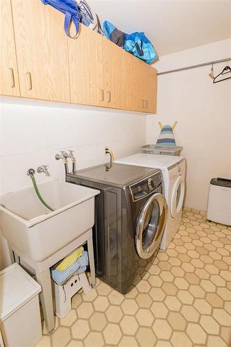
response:
<path id="1" fill-rule="evenodd" d="M 123 296 L 97 280 L 37 347 L 225 347 L 231 335 L 231 228 L 185 209 L 145 278 Z M 141 264 L 142 265 L 142 264 Z"/>

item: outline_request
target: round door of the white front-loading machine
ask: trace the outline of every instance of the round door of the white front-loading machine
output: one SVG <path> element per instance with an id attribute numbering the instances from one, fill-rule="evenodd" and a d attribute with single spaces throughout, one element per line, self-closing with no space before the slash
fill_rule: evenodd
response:
<path id="1" fill-rule="evenodd" d="M 182 209 L 183 200 L 185 196 L 185 178 L 178 176 L 175 185 L 173 186 L 173 192 L 171 194 L 170 212 L 171 217 L 176 217 Z"/>

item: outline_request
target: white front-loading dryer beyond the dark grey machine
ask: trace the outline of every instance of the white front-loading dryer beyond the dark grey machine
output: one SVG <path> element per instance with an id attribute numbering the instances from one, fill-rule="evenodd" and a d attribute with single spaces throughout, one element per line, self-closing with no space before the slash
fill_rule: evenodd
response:
<path id="1" fill-rule="evenodd" d="M 171 155 L 137 153 L 115 161 L 118 164 L 161 169 L 164 178 L 164 196 L 169 214 L 160 248 L 165 250 L 176 235 L 182 217 L 185 196 L 185 158 Z"/>

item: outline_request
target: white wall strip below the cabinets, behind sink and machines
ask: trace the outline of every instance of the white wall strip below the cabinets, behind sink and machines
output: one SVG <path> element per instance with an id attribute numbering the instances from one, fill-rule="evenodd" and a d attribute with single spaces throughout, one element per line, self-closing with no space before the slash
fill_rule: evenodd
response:
<path id="1" fill-rule="evenodd" d="M 48 164 L 51 178 L 64 178 L 60 150 L 75 151 L 78 169 L 134 153 L 146 142 L 146 115 L 75 105 L 2 98 L 0 103 L 0 192 L 31 185 L 30 167 Z M 44 174 L 36 175 L 44 181 Z M 1 235 L 0 235 L 1 236 Z M 0 239 L 0 269 L 8 264 Z"/>

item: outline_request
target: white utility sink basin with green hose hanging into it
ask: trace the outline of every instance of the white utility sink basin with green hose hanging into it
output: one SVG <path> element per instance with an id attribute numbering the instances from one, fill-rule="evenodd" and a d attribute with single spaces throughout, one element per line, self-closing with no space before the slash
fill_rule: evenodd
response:
<path id="1" fill-rule="evenodd" d="M 94 196 L 100 192 L 58 180 L 38 185 L 48 210 L 31 187 L 0 196 L 0 227 L 8 243 L 42 262 L 94 226 Z"/>

